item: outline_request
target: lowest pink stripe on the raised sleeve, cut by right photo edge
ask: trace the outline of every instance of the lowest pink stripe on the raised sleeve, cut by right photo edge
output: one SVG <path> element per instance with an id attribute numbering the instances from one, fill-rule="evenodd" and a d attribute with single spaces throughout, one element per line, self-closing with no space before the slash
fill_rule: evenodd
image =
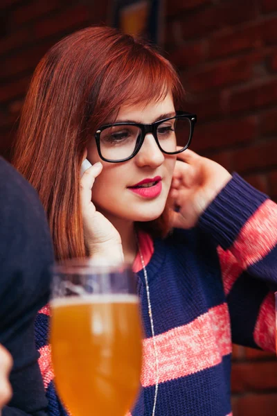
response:
<path id="1" fill-rule="evenodd" d="M 269 293 L 260 306 L 254 329 L 254 340 L 265 351 L 276 352 L 276 323 L 274 293 Z"/>

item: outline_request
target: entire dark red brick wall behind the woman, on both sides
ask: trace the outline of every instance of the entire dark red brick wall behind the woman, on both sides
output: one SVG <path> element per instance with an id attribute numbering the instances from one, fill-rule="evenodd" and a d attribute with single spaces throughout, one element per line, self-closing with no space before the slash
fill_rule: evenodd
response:
<path id="1" fill-rule="evenodd" d="M 107 21 L 108 1 L 1 0 L 0 154 L 35 65 L 63 35 Z M 277 0 L 168 0 L 165 47 L 199 117 L 193 148 L 277 200 Z M 276 416 L 277 362 L 234 346 L 234 416 Z"/>

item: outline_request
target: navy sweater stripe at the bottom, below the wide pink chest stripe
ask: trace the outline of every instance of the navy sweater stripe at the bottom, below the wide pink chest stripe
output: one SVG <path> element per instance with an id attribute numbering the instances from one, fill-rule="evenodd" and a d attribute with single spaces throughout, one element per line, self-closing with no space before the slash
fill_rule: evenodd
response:
<path id="1" fill-rule="evenodd" d="M 181 357 L 180 357 L 181 359 Z M 189 376 L 159 384 L 157 415 L 226 416 L 231 413 L 231 356 L 222 363 Z M 151 416 L 155 386 L 144 389 L 132 410 L 132 416 Z M 176 395 L 178 392 L 178 395 Z M 144 412 L 141 413 L 141 409 Z"/>

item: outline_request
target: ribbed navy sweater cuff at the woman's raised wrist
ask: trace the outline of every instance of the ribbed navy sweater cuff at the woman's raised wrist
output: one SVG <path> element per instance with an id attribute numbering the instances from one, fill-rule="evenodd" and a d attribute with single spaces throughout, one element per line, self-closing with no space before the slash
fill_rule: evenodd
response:
<path id="1" fill-rule="evenodd" d="M 233 245 L 240 229 L 267 200 L 265 193 L 258 191 L 233 173 L 233 178 L 220 191 L 199 218 L 199 227 L 212 234 L 224 249 Z"/>

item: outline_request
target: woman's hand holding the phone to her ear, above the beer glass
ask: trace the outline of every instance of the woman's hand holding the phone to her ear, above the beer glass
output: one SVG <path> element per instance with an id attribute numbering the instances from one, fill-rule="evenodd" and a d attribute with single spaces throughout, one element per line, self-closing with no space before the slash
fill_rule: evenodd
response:
<path id="1" fill-rule="evenodd" d="M 84 171 L 80 180 L 84 243 L 92 259 L 118 263 L 124 259 L 120 235 L 91 202 L 91 189 L 101 171 L 102 164 L 98 162 Z"/>

